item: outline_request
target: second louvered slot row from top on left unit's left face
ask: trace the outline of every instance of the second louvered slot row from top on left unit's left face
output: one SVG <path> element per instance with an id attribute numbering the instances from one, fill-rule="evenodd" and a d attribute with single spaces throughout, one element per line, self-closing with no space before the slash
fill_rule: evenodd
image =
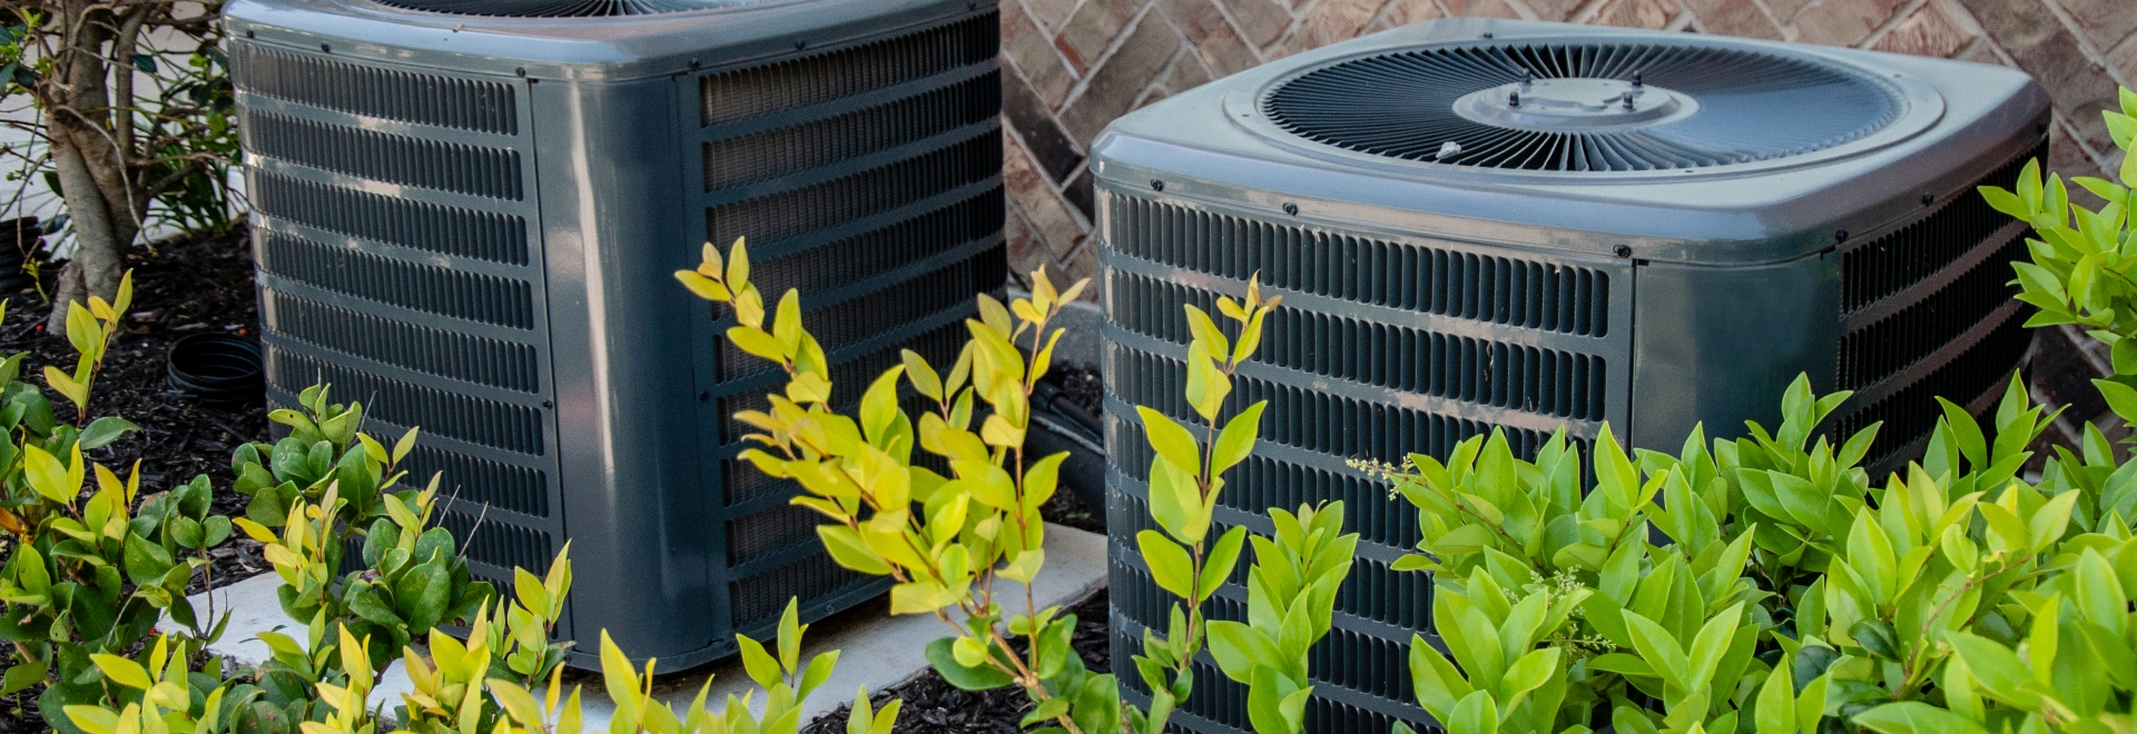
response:
<path id="1" fill-rule="evenodd" d="M 246 113 L 246 149 L 361 179 L 519 201 L 519 151 Z"/>

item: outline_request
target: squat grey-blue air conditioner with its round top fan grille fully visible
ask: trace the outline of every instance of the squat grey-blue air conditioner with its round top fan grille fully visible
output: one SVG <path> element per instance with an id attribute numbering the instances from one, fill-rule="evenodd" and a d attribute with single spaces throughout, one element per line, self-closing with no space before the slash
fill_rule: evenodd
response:
<path id="1" fill-rule="evenodd" d="M 2026 358 L 2022 224 L 1979 183 L 2043 156 L 2047 96 L 2015 70 L 1846 49 L 1524 21 L 1438 21 L 1301 53 L 1122 117 L 1094 145 L 1109 314 L 1113 659 L 1171 600 L 1133 536 L 1150 450 L 1130 405 L 1190 418 L 1188 322 L 1246 280 L 1284 297 L 1231 408 L 1263 446 L 1218 521 L 1342 499 L 1363 536 L 1314 649 L 1310 732 L 1423 730 L 1406 644 L 1425 574 L 1389 561 L 1417 514 L 1344 459 L 1445 454 L 1504 429 L 1534 450 L 1603 420 L 1675 452 L 1695 422 L 1778 420 L 1810 373 L 1831 431 L 1885 420 L 1915 457 L 1943 395 L 1972 410 Z M 1214 312 L 1214 309 L 1212 309 Z M 1227 587 L 1212 615 L 1244 617 Z M 1177 717 L 1246 730 L 1214 666 Z M 1130 700 L 1148 700 L 1122 676 Z"/>

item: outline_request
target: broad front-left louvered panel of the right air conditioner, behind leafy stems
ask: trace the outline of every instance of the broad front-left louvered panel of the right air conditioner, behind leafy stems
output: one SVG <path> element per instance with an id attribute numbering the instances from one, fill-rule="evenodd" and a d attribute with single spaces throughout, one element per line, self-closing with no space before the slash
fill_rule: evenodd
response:
<path id="1" fill-rule="evenodd" d="M 1182 395 L 1192 339 L 1184 307 L 1214 312 L 1218 294 L 1237 297 L 1259 273 L 1284 303 L 1233 376 L 1225 410 L 1267 401 L 1261 446 L 1227 474 L 1216 523 L 1267 531 L 1272 506 L 1344 501 L 1359 550 L 1336 629 L 1308 666 L 1321 683 L 1308 728 L 1425 730 L 1430 717 L 1410 702 L 1408 640 L 1430 629 L 1432 578 L 1389 568 L 1417 544 L 1417 512 L 1344 461 L 1445 454 L 1489 431 L 1504 431 L 1524 457 L 1558 429 L 1586 450 L 1603 418 L 1626 412 L 1628 262 L 1376 239 L 1126 192 L 1103 194 L 1101 226 L 1116 651 L 1135 649 L 1145 625 L 1163 627 L 1171 604 L 1130 540 L 1152 527 L 1152 450 L 1130 405 L 1195 422 Z M 1242 617 L 1244 604 L 1233 578 L 1210 615 Z M 1248 730 L 1244 687 L 1210 672 L 1188 721 Z M 1124 685 L 1128 698 L 1148 696 L 1137 681 Z"/>

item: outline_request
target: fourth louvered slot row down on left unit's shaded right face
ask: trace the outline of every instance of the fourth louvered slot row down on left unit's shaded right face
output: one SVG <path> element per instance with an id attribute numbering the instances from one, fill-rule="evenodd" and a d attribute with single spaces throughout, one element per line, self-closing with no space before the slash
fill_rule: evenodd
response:
<path id="1" fill-rule="evenodd" d="M 1004 211 L 1002 190 L 996 188 L 878 230 L 754 260 L 750 262 L 750 282 L 765 294 L 784 294 L 789 288 L 801 290 L 804 297 L 831 292 L 996 237 L 1002 233 Z M 724 241 L 720 245 L 727 248 Z M 756 248 L 750 248 L 750 254 L 761 256 Z M 814 326 L 814 320 L 810 324 Z"/>

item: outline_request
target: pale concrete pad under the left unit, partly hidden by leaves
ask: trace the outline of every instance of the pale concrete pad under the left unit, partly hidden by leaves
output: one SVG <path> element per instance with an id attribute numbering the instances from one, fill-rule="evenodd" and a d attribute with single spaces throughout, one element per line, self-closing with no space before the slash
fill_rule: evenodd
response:
<path id="1" fill-rule="evenodd" d="M 1105 536 L 1047 525 L 1047 565 L 1032 583 L 1032 597 L 1039 608 L 1073 606 L 1098 589 L 1105 589 Z M 267 644 L 256 638 L 261 632 L 284 627 L 284 634 L 303 642 L 306 623 L 282 615 L 282 606 L 276 602 L 276 589 L 280 585 L 282 578 L 267 572 L 216 589 L 216 615 L 231 610 L 231 627 L 222 634 L 222 640 L 209 647 L 209 653 L 250 668 L 267 661 L 269 657 Z M 1002 600 L 1021 600 L 1024 585 L 998 580 L 996 593 Z M 203 615 L 207 612 L 207 593 L 192 595 L 194 608 Z M 1021 612 L 1024 604 L 1004 606 Z M 836 711 L 840 704 L 853 702 L 853 693 L 859 687 L 868 687 L 870 693 L 876 693 L 912 681 L 927 670 L 927 642 L 951 634 L 951 629 L 934 615 L 891 617 L 887 610 L 887 602 L 878 597 L 810 625 L 801 655 L 814 657 L 836 649 L 840 651 L 840 657 L 838 670 L 831 679 L 801 704 L 801 721 L 814 721 Z M 180 629 L 169 619 L 162 627 L 171 632 Z M 763 642 L 769 644 L 771 640 Z M 598 638 L 588 640 L 586 644 L 598 644 Z M 729 693 L 739 698 L 756 685 L 744 672 L 739 657 L 682 672 L 665 672 L 656 664 L 654 672 L 654 698 L 677 708 L 677 713 L 688 706 L 692 698 L 697 698 L 705 679 L 712 679 L 712 693 L 705 698 L 707 708 L 712 711 L 720 711 L 727 704 Z M 600 689 L 600 676 L 594 672 L 568 670 L 564 679 L 566 685 L 583 687 L 581 711 L 586 715 L 586 730 L 605 732 L 609 728 L 609 717 L 615 715 L 615 704 Z M 400 661 L 393 661 L 393 666 L 389 666 L 385 676 L 378 681 L 378 687 L 372 689 L 372 706 L 380 706 L 387 715 L 391 715 L 391 708 L 400 706 L 400 693 L 406 691 L 412 691 L 408 674 Z M 752 704 L 756 713 L 763 713 L 761 693 Z"/>

